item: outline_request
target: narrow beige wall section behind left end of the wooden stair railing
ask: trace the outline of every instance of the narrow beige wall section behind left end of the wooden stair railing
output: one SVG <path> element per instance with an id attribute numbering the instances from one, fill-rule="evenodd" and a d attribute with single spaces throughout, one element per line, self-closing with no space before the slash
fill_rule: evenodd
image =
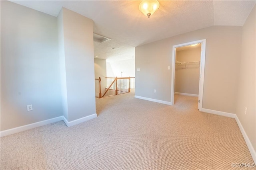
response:
<path id="1" fill-rule="evenodd" d="M 105 59 L 96 59 L 94 58 L 94 75 L 95 78 L 101 78 L 101 94 L 103 95 L 106 91 L 106 76 L 107 76 L 107 68 L 106 68 L 106 60 Z"/>

